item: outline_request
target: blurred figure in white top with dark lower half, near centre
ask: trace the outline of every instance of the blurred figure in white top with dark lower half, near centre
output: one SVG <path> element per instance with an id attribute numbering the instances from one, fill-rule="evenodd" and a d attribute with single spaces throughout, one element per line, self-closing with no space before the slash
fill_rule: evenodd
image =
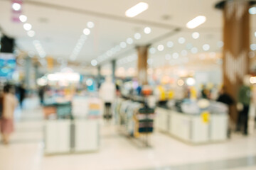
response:
<path id="1" fill-rule="evenodd" d="M 111 106 L 116 98 L 116 87 L 111 77 L 106 77 L 106 81 L 100 86 L 100 98 L 105 105 L 104 118 L 109 120 L 112 118 Z"/>

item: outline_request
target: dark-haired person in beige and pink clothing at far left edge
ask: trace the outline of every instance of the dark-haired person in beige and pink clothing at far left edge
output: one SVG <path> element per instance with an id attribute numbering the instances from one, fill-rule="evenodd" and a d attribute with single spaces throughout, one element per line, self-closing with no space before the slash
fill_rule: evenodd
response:
<path id="1" fill-rule="evenodd" d="M 14 110 L 17 106 L 14 88 L 7 84 L 4 86 L 3 114 L 1 117 L 1 135 L 4 144 L 9 144 L 9 136 L 14 131 Z"/>

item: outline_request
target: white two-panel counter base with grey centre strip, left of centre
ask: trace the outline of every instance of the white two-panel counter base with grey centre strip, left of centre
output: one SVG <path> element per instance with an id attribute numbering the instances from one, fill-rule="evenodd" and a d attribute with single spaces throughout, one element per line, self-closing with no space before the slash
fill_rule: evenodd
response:
<path id="1" fill-rule="evenodd" d="M 100 146 L 100 123 L 90 120 L 46 120 L 45 154 L 93 152 Z"/>

